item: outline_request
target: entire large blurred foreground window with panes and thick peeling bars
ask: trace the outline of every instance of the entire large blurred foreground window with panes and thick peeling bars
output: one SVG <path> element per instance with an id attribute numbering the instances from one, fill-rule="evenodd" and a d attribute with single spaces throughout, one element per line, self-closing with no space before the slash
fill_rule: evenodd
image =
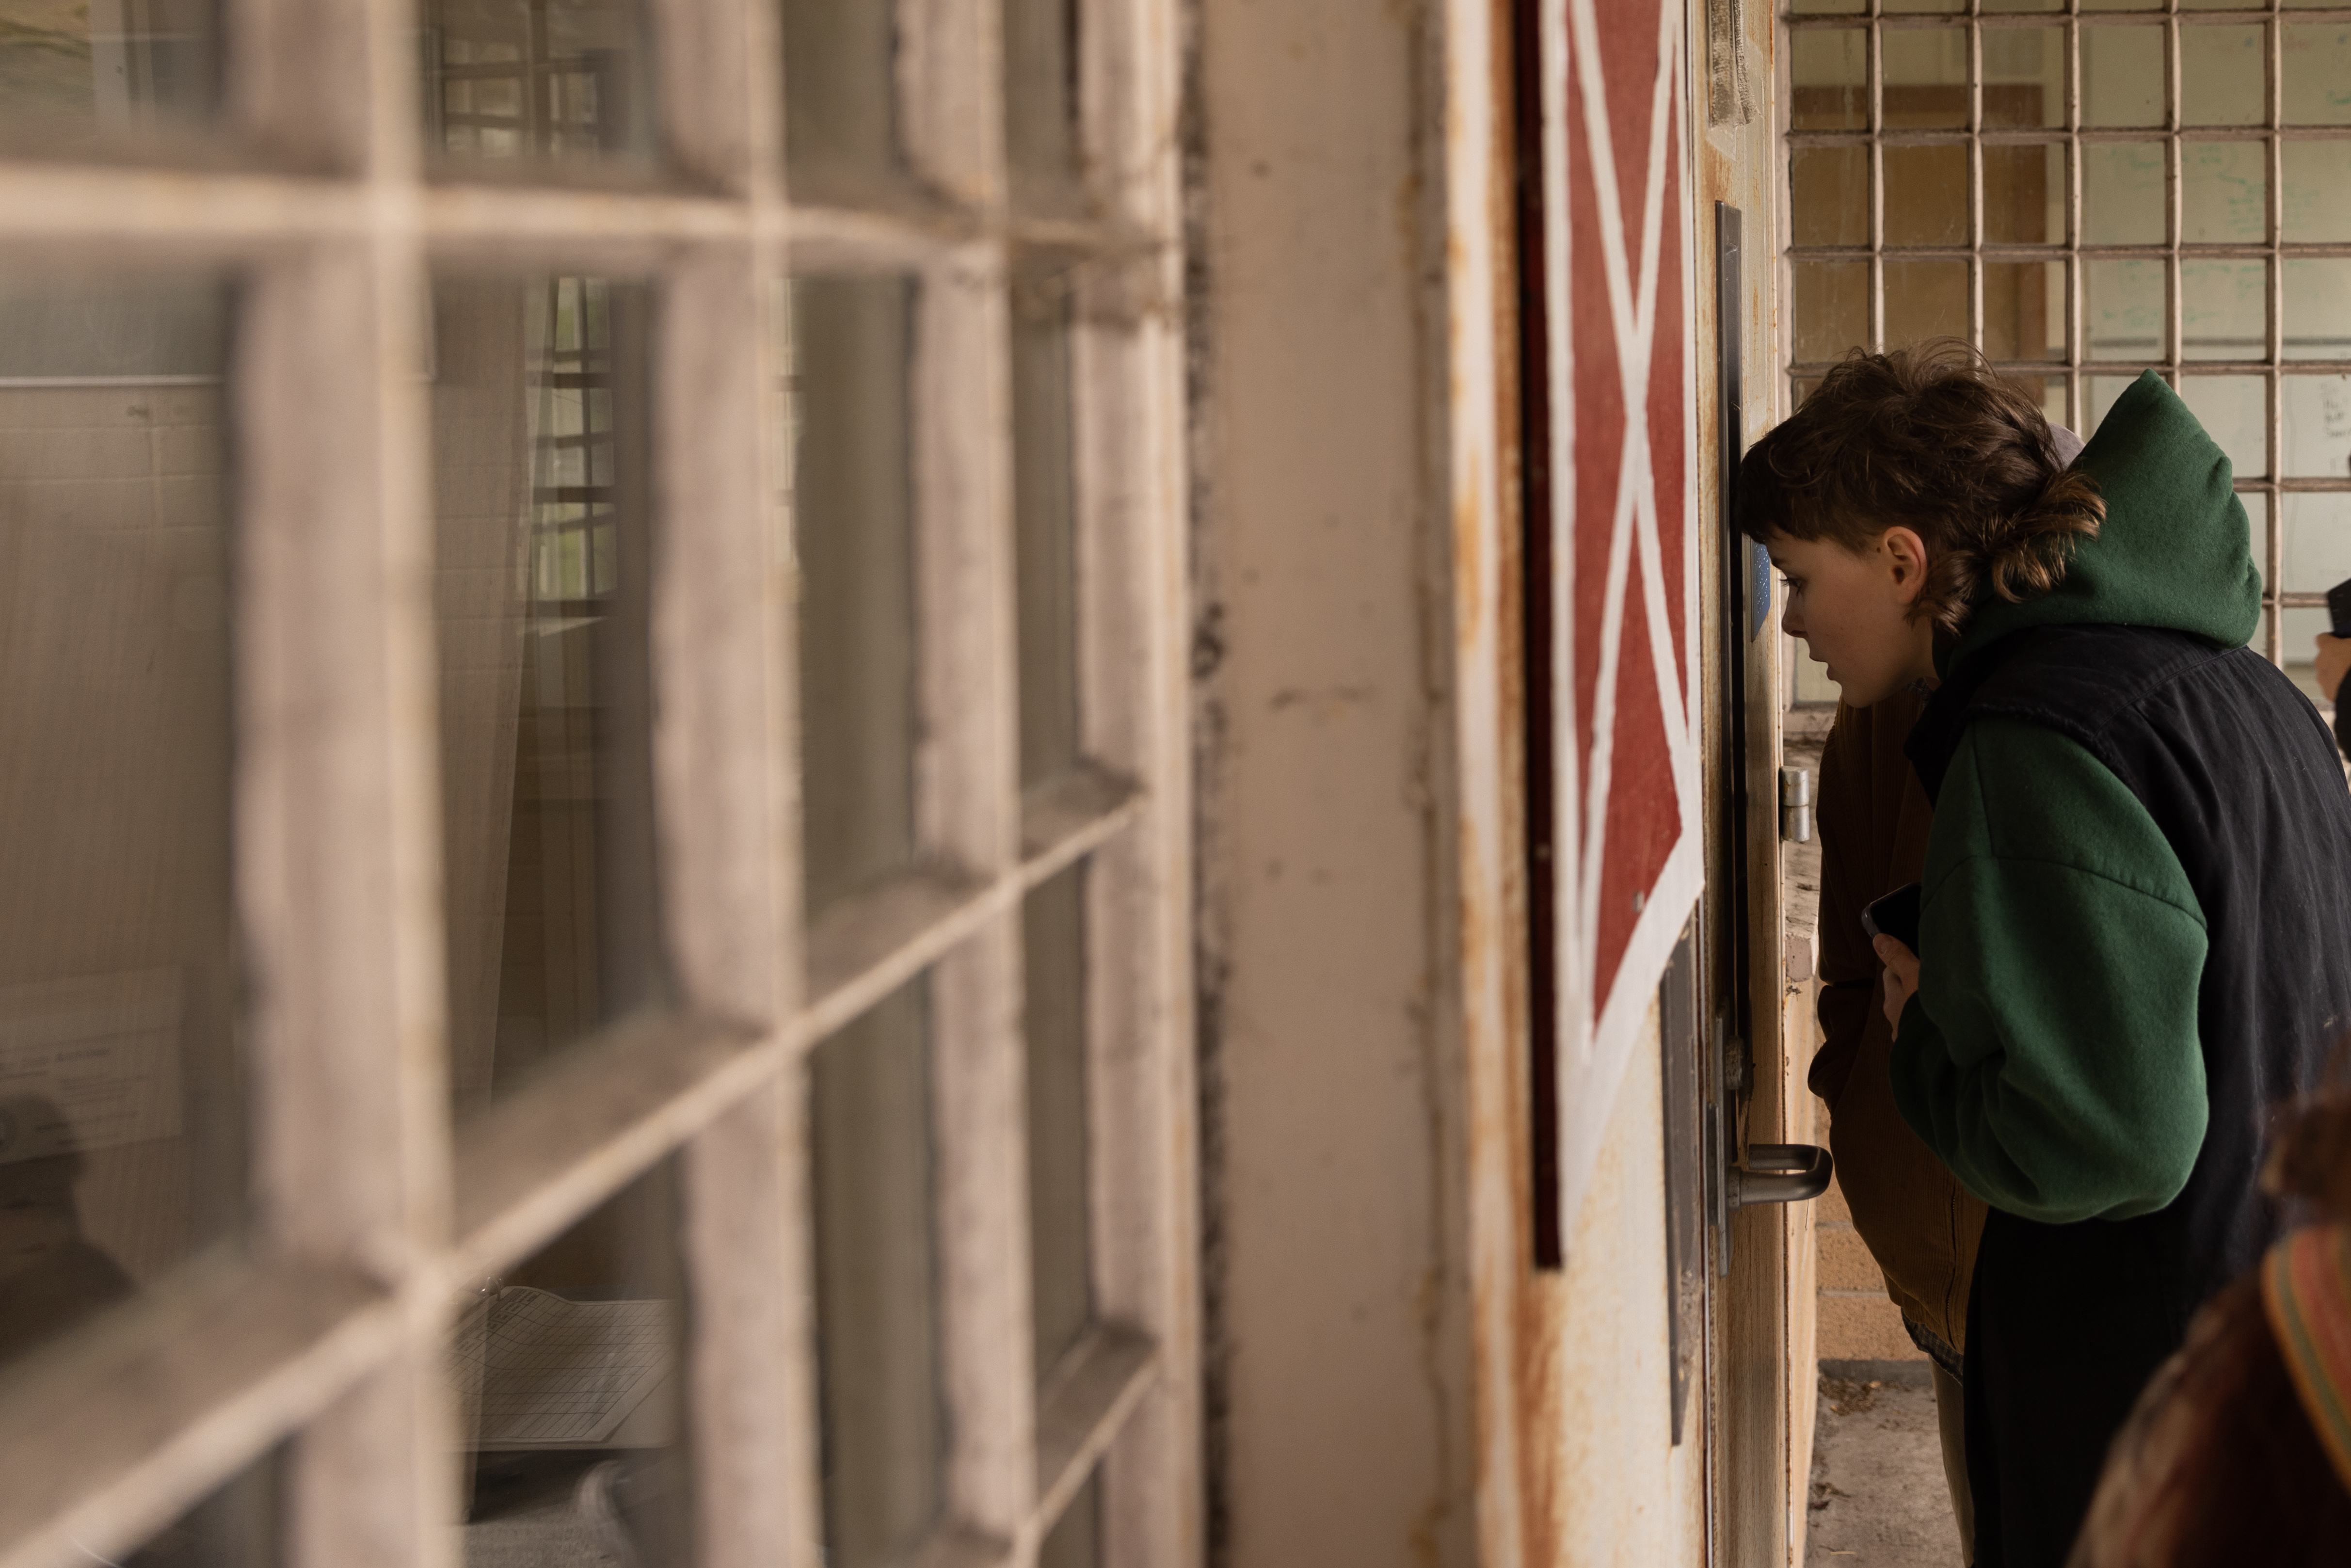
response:
<path id="1" fill-rule="evenodd" d="M 146 583 L 125 508 L 219 548 L 92 625 L 219 644 L 233 976 L 16 985 L 0 922 L 0 1051 L 212 1009 L 186 1114 L 99 1154 L 235 1133 L 212 1222 L 0 1347 L 0 1563 L 181 1561 L 205 1509 L 235 1561 L 449 1563 L 480 1455 L 557 1429 L 668 1455 L 600 1493 L 663 1493 L 651 1561 L 1199 1561 L 1176 9 L 0 42 L 0 512 L 103 449 L 56 559 Z M 45 559 L 12 604 L 85 581 Z M 658 1258 L 515 1295 L 588 1253 Z M 517 1418 L 501 1340 L 600 1307 L 668 1403 Z"/>

